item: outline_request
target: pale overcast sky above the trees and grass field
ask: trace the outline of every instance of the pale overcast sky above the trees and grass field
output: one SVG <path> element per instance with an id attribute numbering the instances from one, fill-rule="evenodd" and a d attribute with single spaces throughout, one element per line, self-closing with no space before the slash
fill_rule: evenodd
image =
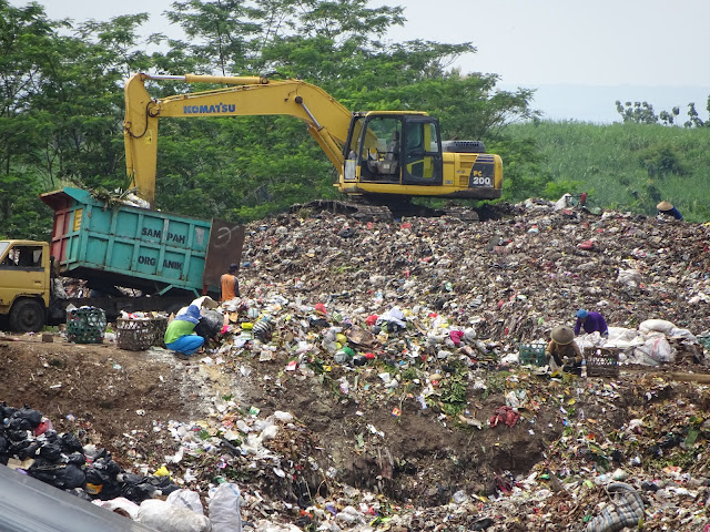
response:
<path id="1" fill-rule="evenodd" d="M 175 34 L 161 16 L 172 1 L 39 3 L 52 19 L 108 20 L 148 11 L 152 13 L 149 32 Z M 552 117 L 604 121 L 605 112 L 613 115 L 616 99 L 649 99 L 659 111 L 684 108 L 694 94 L 704 110 L 710 94 L 710 0 L 373 0 L 371 4 L 405 7 L 407 23 L 393 29 L 393 40 L 473 42 L 478 52 L 459 61 L 464 72 L 497 73 L 506 88 L 538 88 L 536 103 L 549 108 L 544 111 Z M 678 101 L 658 102 L 653 94 Z M 597 98 L 608 106 L 605 112 L 588 109 Z M 608 104 L 607 98 L 611 98 Z M 575 103 L 579 100 L 587 101 Z M 560 115 L 574 113 L 575 105 L 580 110 L 577 115 Z"/>

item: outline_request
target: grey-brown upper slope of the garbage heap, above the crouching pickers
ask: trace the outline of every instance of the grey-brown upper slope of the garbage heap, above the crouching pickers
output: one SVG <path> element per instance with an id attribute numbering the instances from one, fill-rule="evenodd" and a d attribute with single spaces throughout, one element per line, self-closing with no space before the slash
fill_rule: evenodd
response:
<path id="1" fill-rule="evenodd" d="M 250 226 L 242 293 L 271 287 L 312 304 L 371 314 L 426 305 L 480 336 L 528 342 L 578 308 L 615 327 L 661 318 L 710 329 L 710 227 L 617 212 L 601 216 L 528 201 L 518 214 L 357 223 L 322 214 Z M 692 327 L 690 327 L 692 325 Z"/>

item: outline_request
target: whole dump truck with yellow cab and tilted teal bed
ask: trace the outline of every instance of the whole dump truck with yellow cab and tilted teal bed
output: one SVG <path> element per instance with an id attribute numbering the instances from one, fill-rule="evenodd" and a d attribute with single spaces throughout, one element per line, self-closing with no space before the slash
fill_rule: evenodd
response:
<path id="1" fill-rule="evenodd" d="M 95 197 L 64 187 L 42 194 L 54 211 L 51 243 L 0 241 L 0 316 L 11 329 L 38 331 L 90 305 L 108 319 L 121 310 L 175 311 L 200 295 L 219 297 L 220 277 L 239 264 L 244 227 Z M 58 277 L 87 282 L 65 297 Z"/>

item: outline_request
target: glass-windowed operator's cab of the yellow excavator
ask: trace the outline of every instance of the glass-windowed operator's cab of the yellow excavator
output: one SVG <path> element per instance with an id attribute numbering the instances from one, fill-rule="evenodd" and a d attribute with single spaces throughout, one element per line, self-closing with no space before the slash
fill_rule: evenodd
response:
<path id="1" fill-rule="evenodd" d="M 438 120 L 419 113 L 355 114 L 345 146 L 344 181 L 442 184 Z"/>

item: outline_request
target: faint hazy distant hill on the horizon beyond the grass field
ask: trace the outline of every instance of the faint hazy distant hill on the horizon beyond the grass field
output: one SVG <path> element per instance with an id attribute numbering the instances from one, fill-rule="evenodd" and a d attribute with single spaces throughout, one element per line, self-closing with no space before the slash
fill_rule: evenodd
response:
<path id="1" fill-rule="evenodd" d="M 510 83 L 501 83 L 500 88 L 511 90 L 517 88 Z M 545 113 L 547 120 L 576 120 L 610 124 L 619 122 L 620 117 L 615 102 L 648 102 L 653 105 L 656 113 L 680 108 L 681 124 L 686 120 L 688 103 L 694 102 L 702 120 L 707 119 L 706 102 L 710 88 L 706 86 L 640 86 L 640 85 L 523 85 L 536 89 L 532 108 Z"/>

